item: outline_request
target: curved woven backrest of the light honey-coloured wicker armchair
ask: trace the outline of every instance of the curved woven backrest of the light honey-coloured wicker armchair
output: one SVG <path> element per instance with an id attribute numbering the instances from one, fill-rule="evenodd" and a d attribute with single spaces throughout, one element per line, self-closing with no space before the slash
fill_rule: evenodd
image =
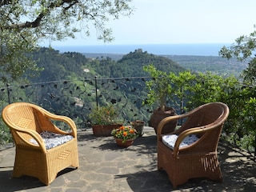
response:
<path id="1" fill-rule="evenodd" d="M 9 126 L 14 142 L 22 142 L 20 137 L 29 140 L 31 136 L 22 130 L 34 130 L 41 133 L 43 127 L 54 126 L 40 110 L 40 107 L 26 102 L 15 102 L 2 110 L 2 120 Z"/>

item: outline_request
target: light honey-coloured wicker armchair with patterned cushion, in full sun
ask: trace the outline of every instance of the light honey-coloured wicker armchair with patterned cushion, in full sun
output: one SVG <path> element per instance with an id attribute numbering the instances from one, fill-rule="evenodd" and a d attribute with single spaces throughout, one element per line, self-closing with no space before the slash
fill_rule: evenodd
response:
<path id="1" fill-rule="evenodd" d="M 14 178 L 29 175 L 49 185 L 59 171 L 68 166 L 78 168 L 77 130 L 70 118 L 51 114 L 34 104 L 16 102 L 2 110 L 2 119 L 10 127 L 16 146 Z M 58 129 L 54 121 L 65 122 L 70 126 L 70 132 Z M 70 139 L 58 146 L 47 147 L 47 139 L 40 135 L 45 132 L 58 135 L 54 141 Z"/>

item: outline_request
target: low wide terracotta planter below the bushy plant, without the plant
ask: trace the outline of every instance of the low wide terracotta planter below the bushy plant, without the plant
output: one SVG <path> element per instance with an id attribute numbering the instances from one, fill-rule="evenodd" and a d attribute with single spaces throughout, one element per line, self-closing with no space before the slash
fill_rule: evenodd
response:
<path id="1" fill-rule="evenodd" d="M 105 126 L 94 125 L 92 126 L 92 129 L 95 136 L 107 137 L 107 136 L 111 136 L 112 130 L 117 129 L 120 126 L 122 126 L 122 124 L 105 125 Z"/>

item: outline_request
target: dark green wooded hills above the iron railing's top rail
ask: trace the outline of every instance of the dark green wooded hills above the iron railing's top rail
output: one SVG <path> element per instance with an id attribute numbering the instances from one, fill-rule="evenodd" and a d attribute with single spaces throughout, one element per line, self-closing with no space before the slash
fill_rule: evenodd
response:
<path id="1" fill-rule="evenodd" d="M 142 69 L 154 64 L 159 70 L 178 73 L 184 70 L 170 58 L 148 54 L 146 51 L 134 50 L 123 55 L 117 61 L 110 57 L 87 58 L 84 54 L 42 48 L 33 54 L 37 65 L 43 70 L 38 77 L 30 78 L 32 82 L 57 81 L 74 78 L 124 78 L 148 76 Z"/>

